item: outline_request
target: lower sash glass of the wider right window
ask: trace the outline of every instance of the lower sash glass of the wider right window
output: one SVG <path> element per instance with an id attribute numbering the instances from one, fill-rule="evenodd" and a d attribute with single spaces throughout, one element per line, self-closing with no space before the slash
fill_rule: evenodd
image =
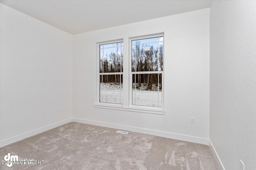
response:
<path id="1" fill-rule="evenodd" d="M 162 107 L 162 74 L 132 74 L 132 105 Z"/>

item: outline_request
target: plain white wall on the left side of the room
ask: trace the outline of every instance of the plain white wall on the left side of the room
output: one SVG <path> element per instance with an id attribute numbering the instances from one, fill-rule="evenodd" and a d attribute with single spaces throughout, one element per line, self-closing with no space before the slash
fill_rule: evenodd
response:
<path id="1" fill-rule="evenodd" d="M 3 4 L 0 11 L 4 146 L 72 117 L 72 35 Z"/>

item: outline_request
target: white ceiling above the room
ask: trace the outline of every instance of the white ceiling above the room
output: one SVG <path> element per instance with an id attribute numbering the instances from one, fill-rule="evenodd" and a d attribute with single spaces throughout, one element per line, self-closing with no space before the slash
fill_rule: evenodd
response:
<path id="1" fill-rule="evenodd" d="M 70 34 L 209 8 L 212 0 L 0 0 Z"/>

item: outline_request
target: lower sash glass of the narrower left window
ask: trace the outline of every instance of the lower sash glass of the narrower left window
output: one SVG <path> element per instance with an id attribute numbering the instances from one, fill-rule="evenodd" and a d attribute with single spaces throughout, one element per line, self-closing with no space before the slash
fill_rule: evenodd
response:
<path id="1" fill-rule="evenodd" d="M 121 104 L 123 99 L 122 74 L 100 75 L 100 102 Z"/>

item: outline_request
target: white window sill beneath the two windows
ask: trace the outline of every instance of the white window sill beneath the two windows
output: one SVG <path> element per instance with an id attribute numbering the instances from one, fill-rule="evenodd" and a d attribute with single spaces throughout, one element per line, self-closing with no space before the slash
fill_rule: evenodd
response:
<path id="1" fill-rule="evenodd" d="M 164 115 L 164 113 L 165 113 L 165 111 L 163 109 L 120 107 L 120 106 L 99 105 L 99 104 L 95 104 L 94 108 L 122 110 L 122 111 L 133 111 L 133 112 L 141 112 L 141 113 L 152 113 L 152 114 L 160 114 L 160 115 Z"/>

